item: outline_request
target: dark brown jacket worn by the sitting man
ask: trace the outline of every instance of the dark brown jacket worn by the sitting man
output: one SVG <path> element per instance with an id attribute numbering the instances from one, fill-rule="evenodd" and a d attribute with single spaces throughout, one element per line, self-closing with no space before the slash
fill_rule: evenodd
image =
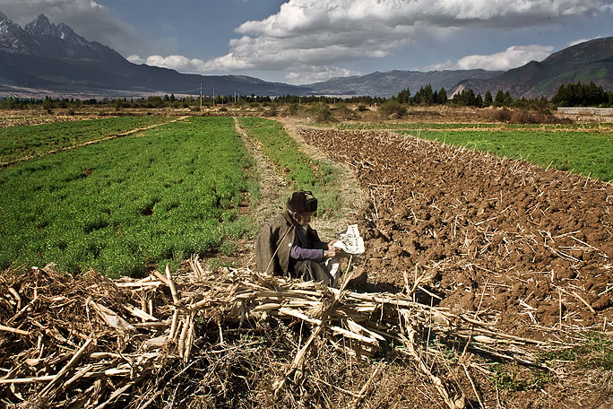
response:
<path id="1" fill-rule="evenodd" d="M 275 217 L 264 224 L 255 243 L 257 271 L 272 275 L 289 276 L 292 271 L 289 251 L 296 240 L 298 223 L 294 222 L 288 212 Z M 322 241 L 317 231 L 307 226 L 306 243 L 298 243 L 302 248 L 319 248 Z"/>

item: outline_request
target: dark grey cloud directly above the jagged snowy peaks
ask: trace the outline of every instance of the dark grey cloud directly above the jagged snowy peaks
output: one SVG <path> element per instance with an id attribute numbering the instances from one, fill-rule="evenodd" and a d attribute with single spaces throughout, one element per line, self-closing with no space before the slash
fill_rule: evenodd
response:
<path id="1" fill-rule="evenodd" d="M 0 11 L 22 27 L 45 14 L 49 21 L 64 22 L 85 39 L 99 41 L 120 53 L 142 46 L 127 26 L 94 0 L 0 0 Z"/>

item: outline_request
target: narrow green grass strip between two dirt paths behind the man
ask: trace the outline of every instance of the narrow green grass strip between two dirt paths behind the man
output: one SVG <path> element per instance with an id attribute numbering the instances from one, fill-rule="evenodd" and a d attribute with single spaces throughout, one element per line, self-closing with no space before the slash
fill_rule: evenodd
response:
<path id="1" fill-rule="evenodd" d="M 243 117 L 240 126 L 262 144 L 266 157 L 293 188 L 313 191 L 320 216 L 327 217 L 341 208 L 339 171 L 332 164 L 316 161 L 302 152 L 294 138 L 276 121 Z"/>

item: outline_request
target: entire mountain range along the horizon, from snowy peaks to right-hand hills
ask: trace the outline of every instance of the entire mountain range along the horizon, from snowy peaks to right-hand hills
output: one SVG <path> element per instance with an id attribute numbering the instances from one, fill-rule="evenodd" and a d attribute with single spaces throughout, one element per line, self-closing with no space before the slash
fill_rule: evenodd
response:
<path id="1" fill-rule="evenodd" d="M 303 86 L 270 83 L 246 75 L 181 74 L 127 61 L 112 48 L 88 41 L 64 23 L 40 14 L 24 28 L 0 13 L 0 96 L 44 95 L 96 98 L 160 93 L 194 95 L 372 95 L 388 97 L 409 88 L 445 88 L 448 95 L 471 88 L 483 94 L 509 91 L 514 98 L 550 98 L 561 83 L 593 81 L 613 88 L 613 37 L 565 48 L 541 62 L 506 72 L 486 70 L 389 71 L 332 78 Z"/>

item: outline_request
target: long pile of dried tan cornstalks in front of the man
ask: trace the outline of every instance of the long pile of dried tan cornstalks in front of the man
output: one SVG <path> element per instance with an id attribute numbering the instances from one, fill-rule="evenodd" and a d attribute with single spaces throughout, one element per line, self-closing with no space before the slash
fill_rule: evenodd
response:
<path id="1" fill-rule="evenodd" d="M 190 265 L 189 274 L 172 276 L 167 267 L 165 274 L 140 280 L 72 277 L 48 266 L 0 275 L 2 405 L 144 408 L 160 406 L 163 397 L 171 407 L 162 396 L 168 395 L 165 385 L 195 361 L 202 367 L 205 354 L 254 344 L 228 347 L 224 337 L 271 319 L 310 326 L 310 337 L 296 346 L 271 394 L 302 381 L 315 340 L 358 356 L 393 345 L 452 408 L 462 404 L 422 361 L 429 341 L 529 365 L 534 345 L 546 346 L 501 334 L 480 313 L 453 314 L 414 302 L 419 277 L 412 288 L 407 277 L 406 293 L 358 293 L 346 290 L 349 280 L 332 289 L 248 269 L 204 272 L 197 258 Z"/>

